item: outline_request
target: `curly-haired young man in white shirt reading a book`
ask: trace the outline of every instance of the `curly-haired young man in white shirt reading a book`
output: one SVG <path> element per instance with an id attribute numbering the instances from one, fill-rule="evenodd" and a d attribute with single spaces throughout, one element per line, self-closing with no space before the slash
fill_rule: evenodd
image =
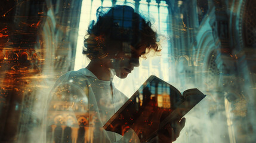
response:
<path id="1" fill-rule="evenodd" d="M 150 22 L 128 6 L 100 7 L 97 17 L 84 41 L 83 54 L 90 58 L 90 63 L 85 69 L 61 76 L 51 92 L 47 125 L 54 133 L 48 133 L 48 142 L 140 142 L 136 134 L 139 129 L 129 129 L 121 136 L 102 127 L 128 100 L 113 85 L 113 76 L 126 78 L 140 65 L 139 58 L 146 51 L 161 51 L 156 32 Z M 54 111 L 57 116 L 63 115 L 56 118 Z M 143 117 L 134 126 L 141 120 Z M 182 119 L 172 123 L 172 127 L 166 125 L 167 133 L 159 133 L 150 142 L 175 141 L 184 123 Z"/>

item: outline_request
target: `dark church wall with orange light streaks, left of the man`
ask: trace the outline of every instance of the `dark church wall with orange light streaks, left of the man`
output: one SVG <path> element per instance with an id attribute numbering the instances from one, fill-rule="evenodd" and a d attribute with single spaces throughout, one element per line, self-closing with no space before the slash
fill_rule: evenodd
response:
<path id="1" fill-rule="evenodd" d="M 81 1 L 55 2 L 1 1 L 0 142 L 38 141 L 50 89 L 73 69 Z"/>

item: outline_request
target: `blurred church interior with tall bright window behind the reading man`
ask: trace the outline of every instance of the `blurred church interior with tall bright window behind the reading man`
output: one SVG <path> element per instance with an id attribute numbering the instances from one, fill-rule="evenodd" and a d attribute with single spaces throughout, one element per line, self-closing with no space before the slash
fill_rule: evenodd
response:
<path id="1" fill-rule="evenodd" d="M 131 97 L 155 74 L 180 91 L 205 93 L 176 142 L 256 141 L 256 1 L 2 0 L 0 142 L 39 141 L 55 80 L 87 66 L 88 24 L 98 7 L 116 4 L 134 7 L 164 37 L 162 55 L 141 60 L 127 79 L 116 77 L 116 88 Z"/>

